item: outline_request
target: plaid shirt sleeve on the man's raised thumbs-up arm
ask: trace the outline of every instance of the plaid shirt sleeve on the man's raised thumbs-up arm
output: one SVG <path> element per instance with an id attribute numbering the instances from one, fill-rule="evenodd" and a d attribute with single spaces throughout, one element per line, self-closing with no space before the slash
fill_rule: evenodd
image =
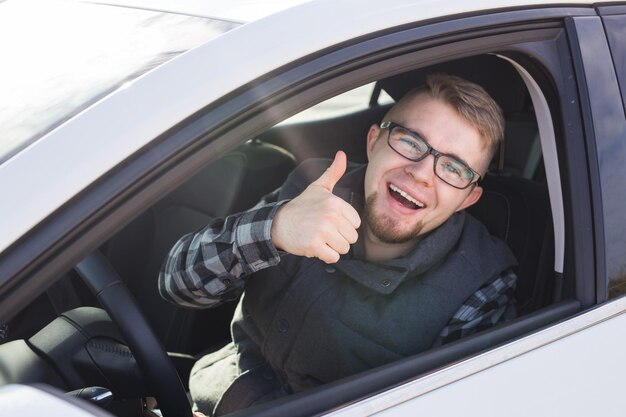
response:
<path id="1" fill-rule="evenodd" d="M 243 291 L 244 277 L 278 264 L 280 254 L 270 230 L 276 210 L 285 202 L 264 200 L 249 211 L 216 219 L 183 236 L 161 268 L 161 296 L 191 308 L 236 299 Z"/>

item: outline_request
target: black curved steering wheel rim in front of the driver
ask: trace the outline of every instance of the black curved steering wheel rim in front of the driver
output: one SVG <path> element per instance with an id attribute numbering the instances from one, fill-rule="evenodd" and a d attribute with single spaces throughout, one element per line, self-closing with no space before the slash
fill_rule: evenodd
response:
<path id="1" fill-rule="evenodd" d="M 163 416 L 191 417 L 191 405 L 174 364 L 109 260 L 96 250 L 75 270 L 124 336 Z"/>

